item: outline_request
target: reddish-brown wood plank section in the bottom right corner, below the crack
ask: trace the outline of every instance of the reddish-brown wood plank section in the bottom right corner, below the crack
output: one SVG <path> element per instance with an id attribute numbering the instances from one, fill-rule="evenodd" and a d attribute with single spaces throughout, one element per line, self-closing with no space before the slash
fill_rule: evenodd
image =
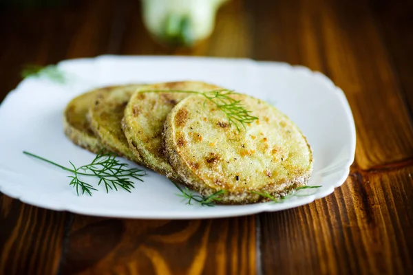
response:
<path id="1" fill-rule="evenodd" d="M 333 195 L 262 214 L 271 274 L 411 274 L 413 167 L 350 175 Z"/>

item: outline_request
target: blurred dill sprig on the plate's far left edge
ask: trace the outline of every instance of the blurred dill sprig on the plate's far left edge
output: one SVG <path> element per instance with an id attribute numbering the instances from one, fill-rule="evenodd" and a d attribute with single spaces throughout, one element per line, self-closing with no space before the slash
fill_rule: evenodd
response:
<path id="1" fill-rule="evenodd" d="M 38 77 L 38 78 L 48 78 L 49 80 L 63 84 L 66 82 L 67 77 L 56 65 L 39 66 L 28 64 L 23 67 L 21 71 L 22 78 L 28 77 Z"/>

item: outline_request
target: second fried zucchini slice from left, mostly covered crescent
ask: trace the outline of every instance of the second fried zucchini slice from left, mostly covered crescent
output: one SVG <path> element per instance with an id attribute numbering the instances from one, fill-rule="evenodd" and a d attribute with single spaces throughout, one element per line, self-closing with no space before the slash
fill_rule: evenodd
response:
<path id="1" fill-rule="evenodd" d="M 89 107 L 88 115 L 90 129 L 100 142 L 138 164 L 142 164 L 142 159 L 129 148 L 121 122 L 129 98 L 141 86 L 124 85 L 99 92 Z"/>

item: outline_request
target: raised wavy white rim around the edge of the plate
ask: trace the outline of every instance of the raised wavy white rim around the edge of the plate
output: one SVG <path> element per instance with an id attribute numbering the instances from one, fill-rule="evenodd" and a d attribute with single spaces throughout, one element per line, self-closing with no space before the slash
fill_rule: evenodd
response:
<path id="1" fill-rule="evenodd" d="M 176 213 L 165 213 L 162 214 L 162 212 L 149 212 L 149 214 L 142 214 L 140 212 L 139 214 L 136 214 L 136 212 L 126 212 L 124 211 L 123 214 L 119 214 L 116 212 L 105 212 L 103 213 L 102 211 L 96 211 L 94 208 L 87 208 L 86 210 L 78 210 L 76 209 L 75 204 L 69 204 L 69 203 L 61 203 L 57 205 L 56 203 L 54 206 L 45 206 L 45 204 L 39 202 L 39 200 L 36 201 L 36 199 L 30 199 L 31 196 L 25 196 L 24 192 L 13 192 L 12 189 L 7 190 L 6 186 L 8 183 L 4 181 L 3 179 L 0 179 L 0 192 L 3 193 L 4 195 L 7 195 L 9 197 L 12 197 L 14 199 L 19 199 L 23 203 L 28 203 L 32 206 L 36 206 L 39 208 L 45 208 L 49 210 L 55 210 L 55 211 L 68 211 L 76 214 L 84 214 L 84 215 L 90 215 L 90 216 L 95 216 L 95 217 L 116 217 L 116 218 L 126 218 L 126 219 L 211 219 L 211 218 L 223 218 L 223 217 L 240 217 L 240 216 L 245 216 L 245 215 L 250 215 L 250 214 L 259 214 L 261 212 L 276 212 L 276 211 L 281 211 L 281 210 L 286 210 L 290 208 L 295 208 L 298 206 L 304 206 L 308 203 L 311 203 L 315 201 L 316 199 L 321 199 L 323 197 L 326 197 L 330 195 L 332 192 L 335 191 L 335 188 L 341 186 L 347 179 L 349 173 L 350 173 L 350 166 L 354 162 L 355 158 L 355 150 L 356 150 L 356 127 L 354 123 L 354 118 L 352 115 L 352 111 L 350 109 L 350 104 L 348 103 L 348 100 L 346 98 L 346 95 L 344 94 L 343 90 L 335 83 L 330 80 L 326 75 L 322 74 L 321 72 L 318 71 L 313 71 L 309 69 L 308 67 L 305 67 L 303 65 L 290 65 L 288 63 L 284 62 L 278 62 L 278 61 L 255 61 L 251 58 L 218 58 L 218 57 L 208 57 L 208 56 L 129 56 L 129 55 L 122 55 L 122 56 L 117 56 L 117 55 L 100 55 L 96 57 L 87 57 L 87 58 L 71 58 L 71 59 L 66 59 L 63 61 L 60 61 L 57 63 L 57 66 L 61 66 L 62 64 L 68 63 L 68 62 L 73 62 L 73 61 L 81 61 L 81 60 L 87 60 L 87 61 L 98 61 L 103 58 L 120 58 L 120 59 L 129 59 L 129 58 L 136 58 L 137 60 L 151 60 L 151 59 L 158 59 L 158 60 L 165 60 L 165 59 L 186 59 L 186 60 L 197 60 L 197 61 L 202 61 L 202 60 L 209 60 L 209 61 L 248 61 L 251 63 L 255 63 L 257 65 L 260 64 L 268 64 L 268 65 L 277 65 L 277 66 L 283 66 L 286 67 L 290 70 L 299 70 L 304 72 L 305 74 L 310 74 L 314 78 L 319 79 L 321 83 L 324 83 L 325 85 L 328 85 L 330 89 L 335 91 L 335 94 L 339 98 L 339 102 L 341 104 L 341 107 L 343 107 L 343 111 L 346 113 L 346 120 L 348 122 L 348 126 L 351 130 L 350 133 L 350 140 L 349 142 L 349 148 L 350 150 L 348 151 L 348 155 L 350 158 L 346 161 L 345 164 L 342 164 L 339 166 L 339 169 L 335 172 L 335 174 L 340 175 L 339 179 L 335 180 L 334 184 L 331 184 L 328 186 L 328 188 L 325 188 L 322 192 L 321 190 L 318 192 L 315 192 L 312 195 L 306 196 L 304 199 L 300 199 L 295 201 L 295 203 L 289 203 L 286 205 L 287 207 L 279 209 L 279 208 L 273 208 L 271 207 L 271 202 L 267 203 L 255 203 L 255 204 L 249 204 L 246 206 L 249 206 L 249 208 L 246 208 L 245 210 L 242 211 L 237 211 L 229 214 L 228 212 L 223 212 L 222 214 L 220 212 L 197 212 L 197 211 L 191 211 L 191 212 L 176 212 Z M 10 99 L 10 96 L 14 96 L 17 91 L 19 91 L 19 87 L 23 85 L 28 79 L 22 80 L 16 88 L 12 89 L 6 97 L 3 99 L 3 102 L 0 104 L 0 111 L 3 109 L 3 104 L 6 102 L 8 99 Z M 10 191 L 10 192 L 9 192 Z M 14 190 L 15 191 L 15 190 Z M 34 197 L 34 196 L 32 196 Z M 279 205 L 279 204 L 278 204 Z M 251 207 L 255 206 L 255 207 Z M 219 206 L 219 207 L 233 207 L 233 206 Z M 242 206 L 241 206 L 242 207 Z M 100 208 L 99 208 L 100 209 Z"/>

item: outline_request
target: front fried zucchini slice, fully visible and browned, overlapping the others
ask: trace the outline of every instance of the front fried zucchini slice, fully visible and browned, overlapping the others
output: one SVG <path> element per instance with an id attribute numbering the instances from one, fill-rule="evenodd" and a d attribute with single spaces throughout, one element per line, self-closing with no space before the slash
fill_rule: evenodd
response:
<path id="1" fill-rule="evenodd" d="M 313 154 L 298 127 L 275 107 L 246 95 L 246 110 L 258 118 L 237 131 L 226 114 L 203 96 L 180 101 L 167 115 L 163 138 L 169 162 L 184 184 L 208 196 L 226 190 L 222 203 L 265 201 L 306 185 Z"/>

